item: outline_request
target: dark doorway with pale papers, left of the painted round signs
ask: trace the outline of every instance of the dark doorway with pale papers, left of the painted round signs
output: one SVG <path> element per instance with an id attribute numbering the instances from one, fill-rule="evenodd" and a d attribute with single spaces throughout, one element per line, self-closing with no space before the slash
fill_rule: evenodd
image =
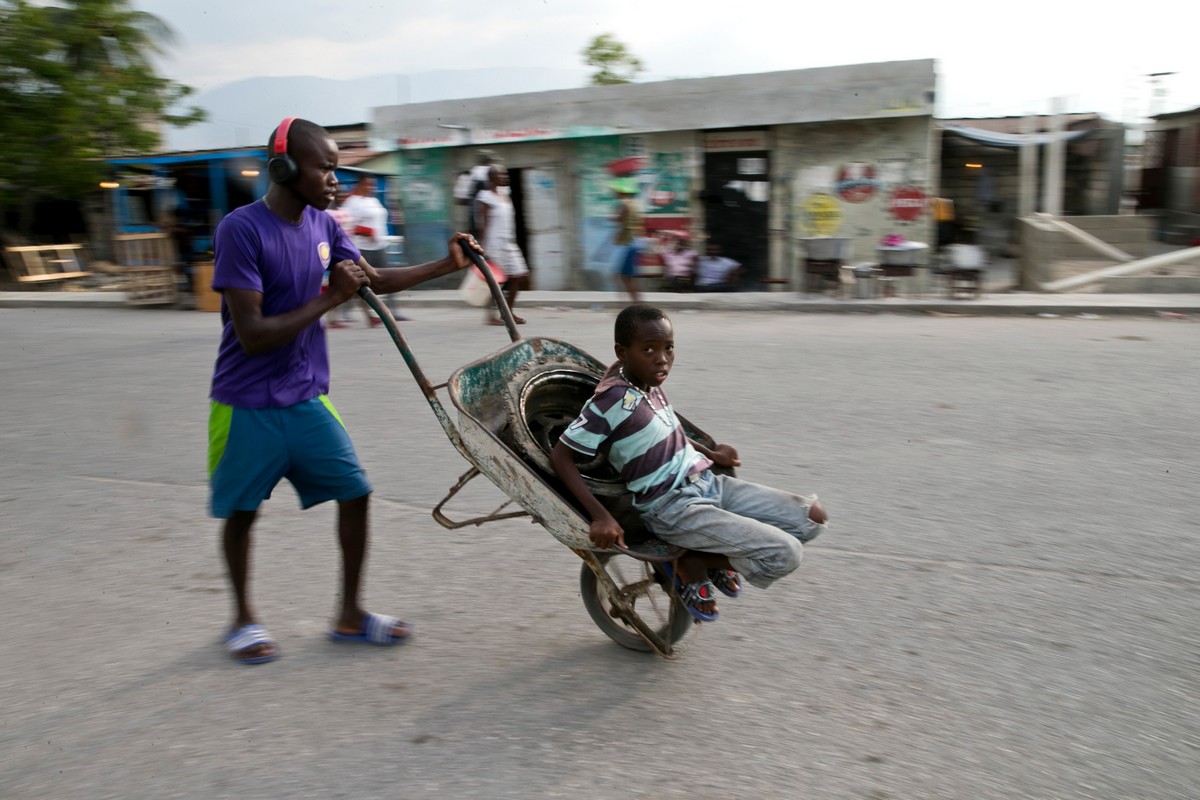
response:
<path id="1" fill-rule="evenodd" d="M 766 150 L 704 154 L 704 224 L 721 254 L 742 264 L 742 288 L 760 288 L 769 252 L 770 162 Z"/>

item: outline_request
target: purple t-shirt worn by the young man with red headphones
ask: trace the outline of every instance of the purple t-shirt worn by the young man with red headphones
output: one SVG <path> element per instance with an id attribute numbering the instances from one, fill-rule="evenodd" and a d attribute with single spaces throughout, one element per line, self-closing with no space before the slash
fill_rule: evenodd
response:
<path id="1" fill-rule="evenodd" d="M 305 206 L 300 222 L 292 224 L 262 200 L 221 221 L 212 251 L 212 289 L 260 291 L 264 317 L 319 295 L 330 264 L 359 260 L 359 251 L 328 213 Z M 319 319 L 287 344 L 258 355 L 242 350 L 223 301 L 221 324 L 212 399 L 238 408 L 284 408 L 329 391 L 329 348 Z"/>

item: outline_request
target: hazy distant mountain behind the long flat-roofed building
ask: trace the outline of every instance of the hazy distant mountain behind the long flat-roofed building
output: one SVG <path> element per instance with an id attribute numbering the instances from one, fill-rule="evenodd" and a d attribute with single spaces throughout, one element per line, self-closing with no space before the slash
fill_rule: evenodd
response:
<path id="1" fill-rule="evenodd" d="M 192 97 L 209 113 L 209 121 L 167 128 L 164 150 L 211 150 L 264 145 L 284 116 L 302 116 L 320 125 L 371 121 L 371 109 L 398 103 L 493 97 L 526 91 L 575 89 L 588 72 L 503 67 L 439 70 L 412 76 L 373 76 L 350 80 L 329 78 L 247 78 Z"/>

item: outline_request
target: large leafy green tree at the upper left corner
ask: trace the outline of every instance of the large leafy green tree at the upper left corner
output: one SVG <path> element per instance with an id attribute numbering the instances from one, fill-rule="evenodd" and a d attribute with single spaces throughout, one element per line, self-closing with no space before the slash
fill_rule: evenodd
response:
<path id="1" fill-rule="evenodd" d="M 128 0 L 0 0 L 0 206 L 28 231 L 38 199 L 77 199 L 103 158 L 152 151 L 162 124 L 204 119 L 152 58 L 174 41 Z"/>

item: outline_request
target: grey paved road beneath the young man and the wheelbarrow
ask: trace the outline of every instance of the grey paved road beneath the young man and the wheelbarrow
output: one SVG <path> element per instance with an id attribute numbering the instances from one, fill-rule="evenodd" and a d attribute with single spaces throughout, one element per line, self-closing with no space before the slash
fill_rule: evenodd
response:
<path id="1" fill-rule="evenodd" d="M 434 379 L 503 343 L 407 325 Z M 524 309 L 605 357 L 611 312 Z M 0 311 L 2 798 L 1195 796 L 1196 331 L 1168 319 L 679 312 L 676 405 L 834 518 L 673 662 L 588 619 L 540 528 L 449 533 L 466 468 L 378 330 L 334 332 L 377 493 L 336 646 L 332 510 L 265 507 L 246 668 L 204 513 L 216 318 Z M 487 498 L 468 498 L 484 504 Z"/>

